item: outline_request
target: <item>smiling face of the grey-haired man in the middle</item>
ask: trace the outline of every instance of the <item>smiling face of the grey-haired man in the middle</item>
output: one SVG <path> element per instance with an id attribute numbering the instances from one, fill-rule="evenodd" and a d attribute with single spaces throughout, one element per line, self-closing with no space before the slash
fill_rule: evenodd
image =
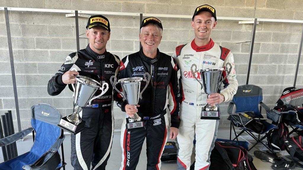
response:
<path id="1" fill-rule="evenodd" d="M 156 57 L 157 48 L 162 38 L 161 32 L 161 28 L 158 28 L 155 25 L 146 25 L 141 28 L 139 39 L 142 44 L 143 53 L 147 57 Z"/>

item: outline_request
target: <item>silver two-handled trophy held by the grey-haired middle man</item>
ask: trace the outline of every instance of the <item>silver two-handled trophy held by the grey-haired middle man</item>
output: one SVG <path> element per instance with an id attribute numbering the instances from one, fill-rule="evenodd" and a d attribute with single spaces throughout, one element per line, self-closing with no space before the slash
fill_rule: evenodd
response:
<path id="1" fill-rule="evenodd" d="M 142 93 L 144 92 L 144 90 L 148 86 L 148 83 L 149 83 L 149 80 L 150 80 L 150 75 L 148 73 L 145 73 L 143 75 L 143 77 L 144 77 L 144 79 L 142 77 L 129 77 L 129 78 L 120 79 L 117 82 L 117 78 L 115 76 L 112 76 L 110 81 L 112 83 L 112 86 L 115 88 L 115 90 L 117 90 L 117 92 L 119 92 L 121 94 L 121 96 L 123 97 L 123 101 L 125 101 L 125 99 L 126 99 L 128 104 L 137 107 L 136 105 L 139 102 L 139 98 L 142 99 Z M 112 81 L 113 78 L 114 78 L 114 81 Z M 146 82 L 146 85 L 140 93 L 140 86 L 141 86 L 141 81 L 142 80 Z M 120 90 L 118 90 L 116 88 L 116 84 L 118 84 L 118 83 L 121 84 L 123 92 L 120 92 Z M 134 117 L 132 117 L 132 118 L 129 117 L 128 118 L 128 121 L 130 123 L 140 122 L 141 117 L 138 116 L 137 113 L 135 113 Z"/>

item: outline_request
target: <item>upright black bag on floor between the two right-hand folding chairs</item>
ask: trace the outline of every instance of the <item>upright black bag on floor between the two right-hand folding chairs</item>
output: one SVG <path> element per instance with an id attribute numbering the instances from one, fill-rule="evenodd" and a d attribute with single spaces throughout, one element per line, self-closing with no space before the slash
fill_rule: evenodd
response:
<path id="1" fill-rule="evenodd" d="M 283 151 L 285 149 L 285 139 L 289 133 L 288 127 L 284 123 L 279 123 L 277 129 L 272 129 L 268 133 L 268 146 L 272 149 Z"/>

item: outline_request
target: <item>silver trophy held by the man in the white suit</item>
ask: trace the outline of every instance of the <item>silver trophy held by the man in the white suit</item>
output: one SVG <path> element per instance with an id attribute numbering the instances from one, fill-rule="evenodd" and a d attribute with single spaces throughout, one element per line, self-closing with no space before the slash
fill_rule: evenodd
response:
<path id="1" fill-rule="evenodd" d="M 229 65 L 229 70 L 227 70 L 227 66 Z M 193 67 L 195 67 L 195 70 L 193 70 Z M 209 95 L 217 93 L 218 88 L 221 86 L 221 83 L 227 78 L 227 76 L 231 72 L 231 64 L 226 63 L 225 69 L 224 68 L 206 68 L 206 69 L 197 69 L 197 65 L 193 64 L 191 66 L 191 73 L 193 77 L 201 84 L 201 89 L 204 89 L 205 94 L 207 94 L 207 98 Z M 200 72 L 202 77 L 202 83 L 197 79 L 195 76 L 196 72 Z M 223 71 L 227 71 L 226 76 L 220 81 L 221 75 Z M 204 106 L 202 113 L 201 113 L 201 119 L 220 119 L 220 113 L 219 108 L 215 105 L 210 106 L 210 104 L 207 104 Z"/>

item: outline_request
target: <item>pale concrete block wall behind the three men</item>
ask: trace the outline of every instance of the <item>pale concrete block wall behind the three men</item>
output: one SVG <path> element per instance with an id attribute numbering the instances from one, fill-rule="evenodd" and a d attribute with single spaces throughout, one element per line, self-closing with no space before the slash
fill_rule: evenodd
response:
<path id="1" fill-rule="evenodd" d="M 203 4 L 216 8 L 217 16 L 303 20 L 303 1 L 288 0 L 4 0 L 0 6 L 20 8 L 115 11 L 151 14 L 192 15 Z M 91 15 L 91 14 L 89 14 Z M 138 16 L 105 15 L 111 24 L 107 50 L 121 59 L 139 50 Z M 171 55 L 175 47 L 191 42 L 194 31 L 190 18 L 158 17 L 162 21 L 161 52 Z M 9 11 L 12 47 L 18 89 L 22 129 L 30 126 L 30 108 L 37 103 L 55 106 L 62 116 L 72 113 L 72 93 L 66 88 L 58 96 L 49 96 L 47 83 L 60 68 L 65 57 L 76 51 L 75 18 L 65 13 Z M 87 18 L 79 17 L 80 48 L 85 48 Z M 211 38 L 231 49 L 239 85 L 245 84 L 252 36 L 252 24 L 218 20 Z M 257 25 L 250 84 L 263 88 L 264 102 L 273 106 L 285 87 L 293 85 L 301 40 L 302 24 L 260 22 Z M 238 44 L 236 44 L 238 43 Z M 303 87 L 303 57 L 297 87 Z M 9 62 L 4 11 L 0 11 L 0 115 L 12 110 L 15 129 L 16 111 Z M 220 105 L 221 126 L 228 125 L 228 103 Z M 114 105 L 115 129 L 121 127 L 124 113 Z"/>

